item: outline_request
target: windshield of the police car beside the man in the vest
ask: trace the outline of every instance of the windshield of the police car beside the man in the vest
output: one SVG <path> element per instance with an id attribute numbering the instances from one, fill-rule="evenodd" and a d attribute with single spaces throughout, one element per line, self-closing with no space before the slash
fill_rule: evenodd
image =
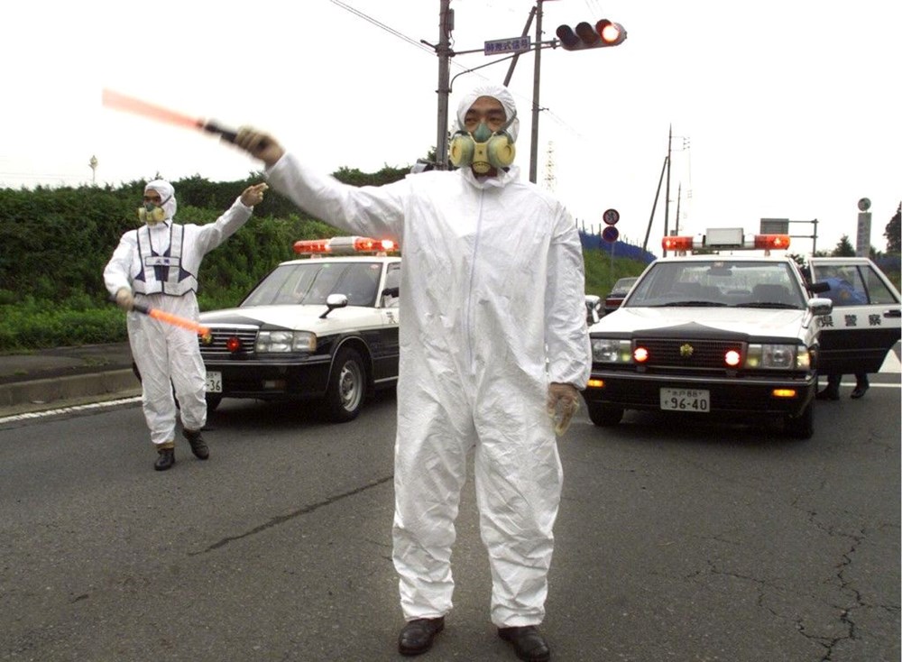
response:
<path id="1" fill-rule="evenodd" d="M 325 305 L 330 294 L 345 294 L 349 306 L 374 306 L 381 262 L 309 260 L 280 264 L 247 295 L 248 306 Z"/>

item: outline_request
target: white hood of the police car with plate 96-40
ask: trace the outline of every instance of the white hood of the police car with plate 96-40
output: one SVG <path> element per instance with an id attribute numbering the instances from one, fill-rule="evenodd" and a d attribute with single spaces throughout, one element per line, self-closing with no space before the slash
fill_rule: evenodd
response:
<path id="1" fill-rule="evenodd" d="M 753 336 L 796 337 L 805 310 L 769 308 L 617 308 L 589 327 L 592 334 L 634 333 L 674 326 L 710 326 Z"/>

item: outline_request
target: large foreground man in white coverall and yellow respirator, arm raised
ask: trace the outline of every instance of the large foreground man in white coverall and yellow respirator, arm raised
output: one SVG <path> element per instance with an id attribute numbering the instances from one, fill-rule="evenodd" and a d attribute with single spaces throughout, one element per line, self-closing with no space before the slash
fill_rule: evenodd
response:
<path id="1" fill-rule="evenodd" d="M 475 89 L 450 145 L 459 170 L 355 188 L 244 127 L 273 188 L 354 234 L 400 243 L 400 375 L 393 560 L 405 620 L 398 647 L 426 652 L 452 608 L 451 547 L 474 449 L 492 623 L 524 660 L 548 660 L 545 615 L 563 431 L 591 354 L 583 253 L 573 218 L 511 163 L 511 93 Z"/>

